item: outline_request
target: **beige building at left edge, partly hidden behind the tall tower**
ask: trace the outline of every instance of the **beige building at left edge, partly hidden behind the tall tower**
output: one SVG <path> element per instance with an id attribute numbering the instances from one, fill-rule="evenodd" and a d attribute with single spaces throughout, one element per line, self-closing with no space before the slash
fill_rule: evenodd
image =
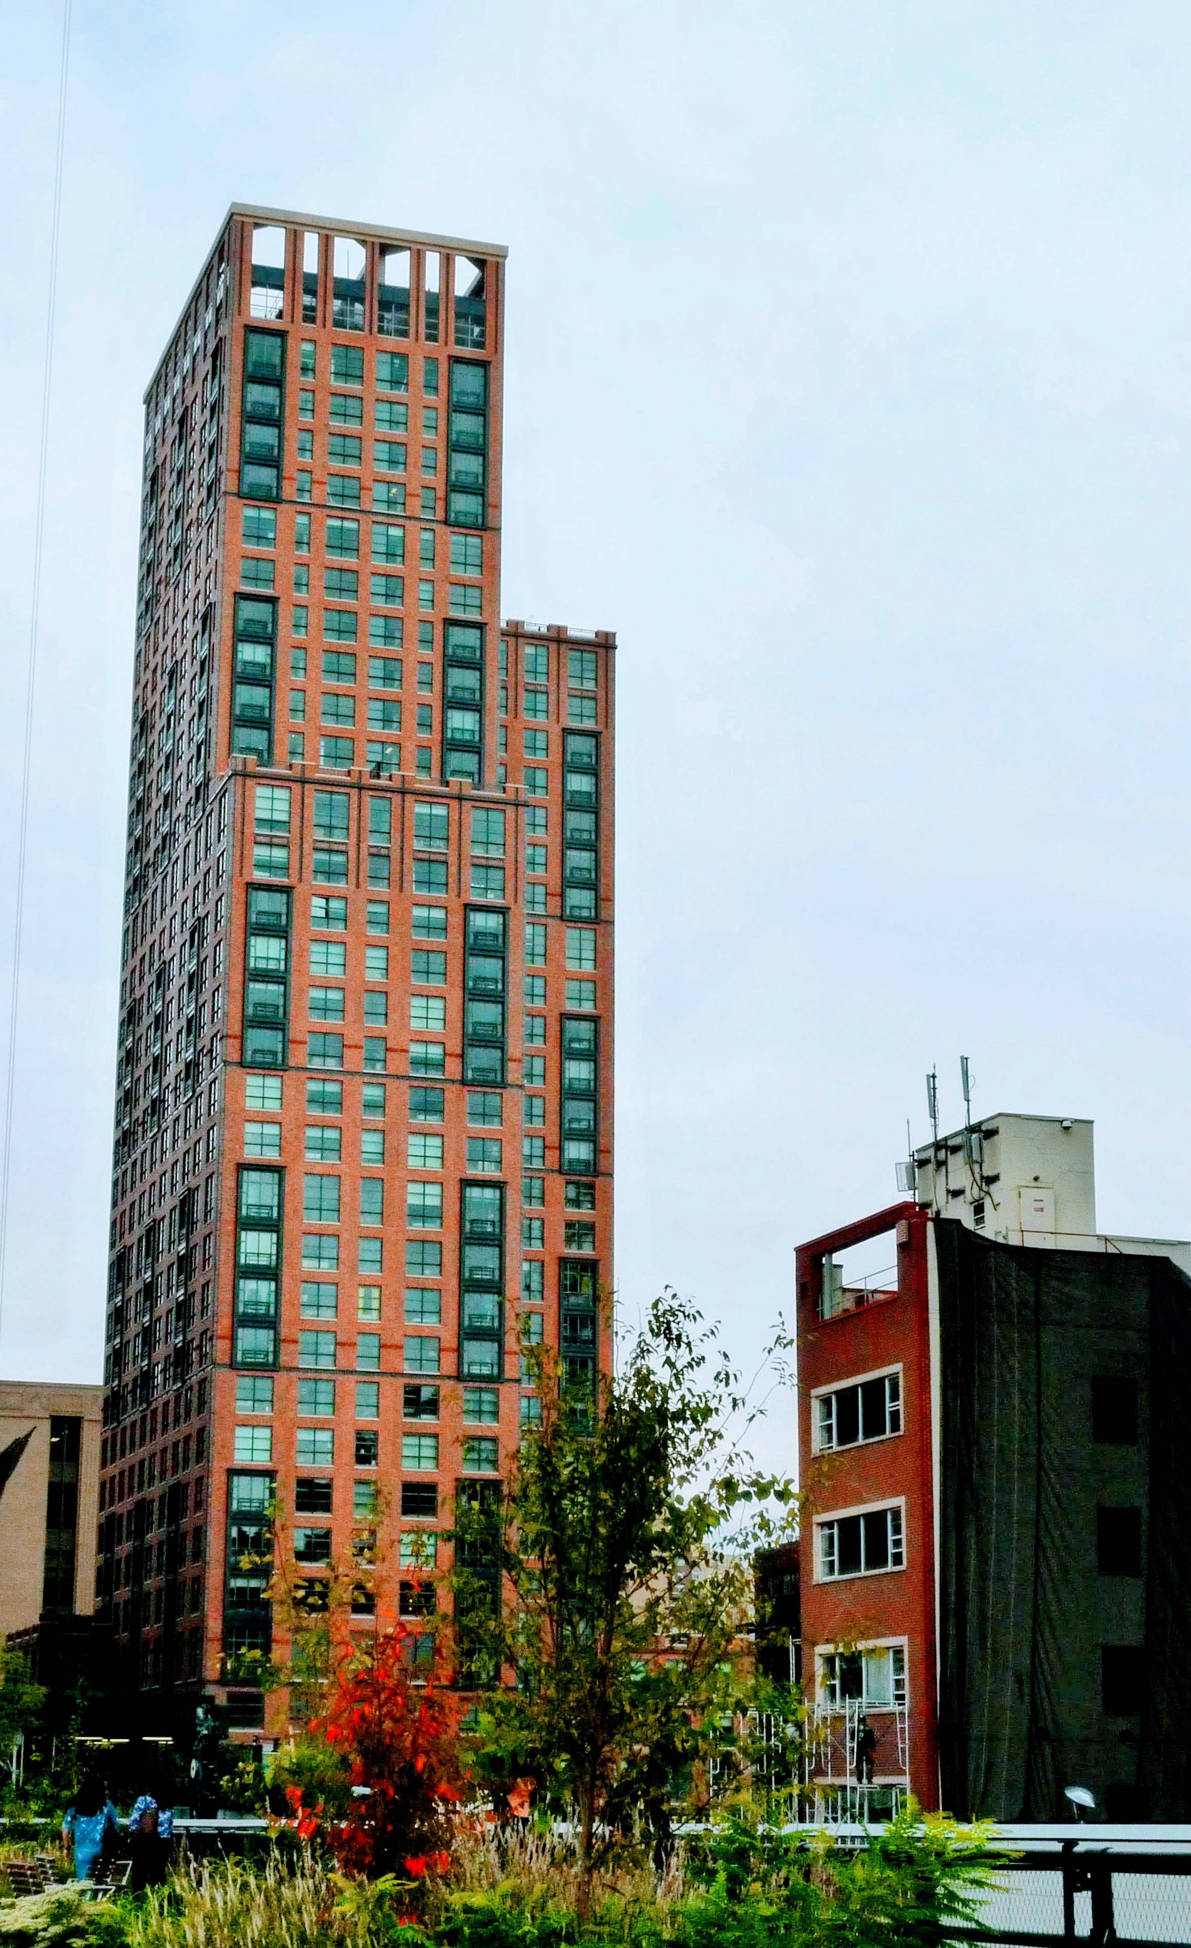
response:
<path id="1" fill-rule="evenodd" d="M 96 1609 L 101 1387 L 0 1381 L 0 1642 Z"/>

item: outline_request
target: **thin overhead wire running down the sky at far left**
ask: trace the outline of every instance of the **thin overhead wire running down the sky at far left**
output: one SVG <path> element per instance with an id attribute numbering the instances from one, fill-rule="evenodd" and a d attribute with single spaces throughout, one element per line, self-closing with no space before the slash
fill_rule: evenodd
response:
<path id="1" fill-rule="evenodd" d="M 55 146 L 55 197 L 49 230 L 49 298 L 45 308 L 45 358 L 41 374 L 41 444 L 37 452 L 37 506 L 33 516 L 33 600 L 29 610 L 29 662 L 25 672 L 25 742 L 21 754 L 21 808 L 18 820 L 16 902 L 12 929 L 12 995 L 8 1009 L 8 1058 L 4 1069 L 4 1155 L 0 1163 L 0 1332 L 8 1272 L 8 1208 L 12 1188 L 12 1112 L 16 1101 L 16 1050 L 21 999 L 21 945 L 25 923 L 25 861 L 29 851 L 29 779 L 33 766 L 33 699 L 37 693 L 37 627 L 41 618 L 41 559 L 45 540 L 45 477 L 49 460 L 49 409 L 55 370 L 55 310 L 58 300 L 58 236 L 62 228 L 62 160 L 66 154 L 66 80 L 70 74 L 70 6 L 62 0 L 62 55 L 58 62 L 58 140 Z"/>

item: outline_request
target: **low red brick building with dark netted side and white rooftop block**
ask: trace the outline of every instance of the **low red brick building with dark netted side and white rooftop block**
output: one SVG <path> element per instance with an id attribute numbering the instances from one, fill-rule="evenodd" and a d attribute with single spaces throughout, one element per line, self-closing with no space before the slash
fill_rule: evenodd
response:
<path id="1" fill-rule="evenodd" d="M 1082 1784 L 1187 1819 L 1187 1247 L 1076 1225 L 1090 1124 L 988 1118 L 914 1161 L 916 1198 L 797 1253 L 811 1782 L 871 1816 L 1055 1819 Z"/>

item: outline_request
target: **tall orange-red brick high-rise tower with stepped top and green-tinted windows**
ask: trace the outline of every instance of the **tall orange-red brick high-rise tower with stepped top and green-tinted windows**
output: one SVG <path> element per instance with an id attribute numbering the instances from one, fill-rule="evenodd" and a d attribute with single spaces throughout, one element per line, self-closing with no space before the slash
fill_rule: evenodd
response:
<path id="1" fill-rule="evenodd" d="M 97 1590 L 140 1728 L 261 1724 L 273 1551 L 417 1617 L 522 1342 L 606 1354 L 614 637 L 501 627 L 503 286 L 234 205 L 146 393 Z"/>

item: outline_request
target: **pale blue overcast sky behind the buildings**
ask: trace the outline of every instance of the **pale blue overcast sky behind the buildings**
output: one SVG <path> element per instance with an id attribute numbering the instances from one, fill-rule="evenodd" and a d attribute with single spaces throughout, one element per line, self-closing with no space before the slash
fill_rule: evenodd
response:
<path id="1" fill-rule="evenodd" d="M 0 1032 L 58 37 L 2 0 Z M 752 1373 L 961 1054 L 1191 1235 L 1189 94 L 1173 0 L 74 0 L 0 1375 L 101 1371 L 140 395 L 232 199 L 509 245 L 503 608 L 618 637 L 624 1317 Z"/>

